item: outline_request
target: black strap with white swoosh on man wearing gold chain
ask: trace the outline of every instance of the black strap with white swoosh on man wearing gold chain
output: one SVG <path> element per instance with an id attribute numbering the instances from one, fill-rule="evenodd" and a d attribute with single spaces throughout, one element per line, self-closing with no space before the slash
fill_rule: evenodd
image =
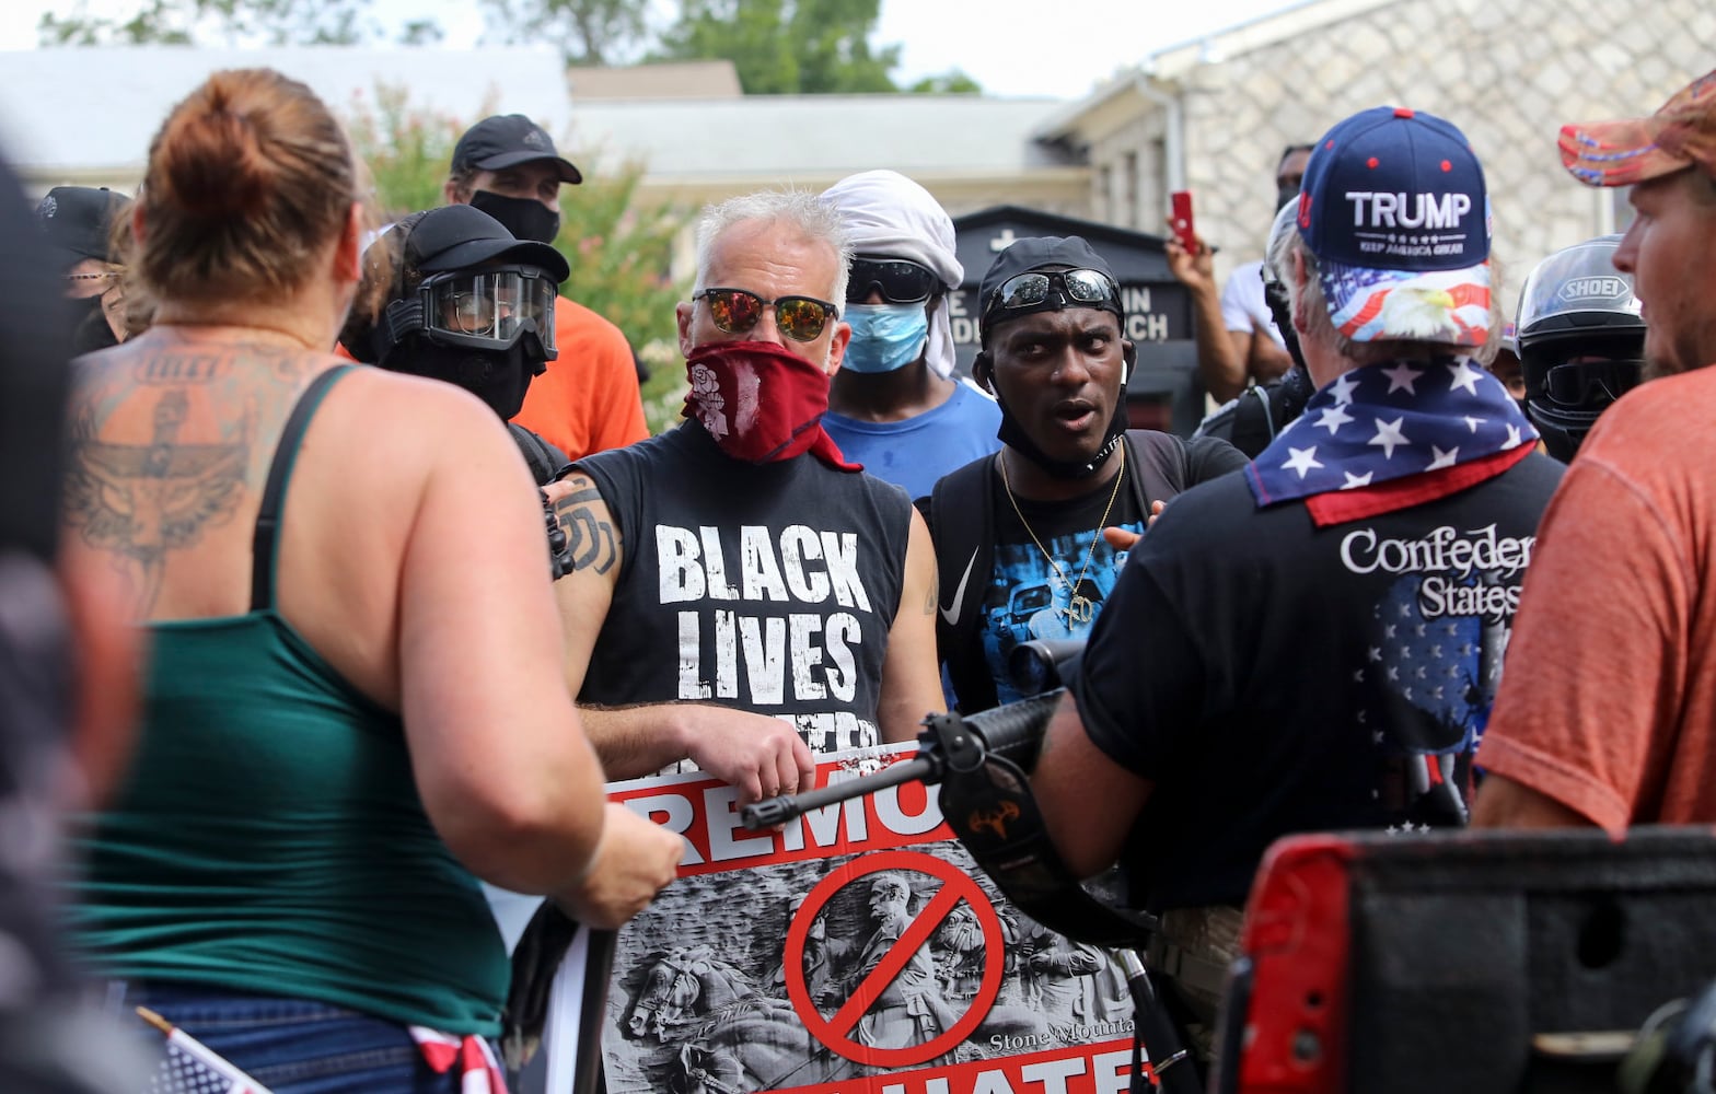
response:
<path id="1" fill-rule="evenodd" d="M 982 456 L 942 475 L 925 513 L 940 580 L 935 646 L 963 710 L 987 710 L 997 701 L 995 681 L 988 676 L 978 640 L 983 592 L 995 564 L 990 468 L 997 458 Z"/>

